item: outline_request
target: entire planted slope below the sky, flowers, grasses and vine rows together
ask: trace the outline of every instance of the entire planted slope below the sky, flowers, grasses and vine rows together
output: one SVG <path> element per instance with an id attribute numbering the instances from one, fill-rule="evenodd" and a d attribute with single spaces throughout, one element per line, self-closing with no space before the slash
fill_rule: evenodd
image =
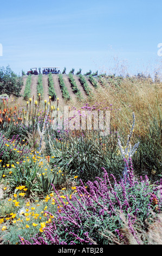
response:
<path id="1" fill-rule="evenodd" d="M 24 77 L 25 97 L 0 102 L 0 243 L 161 244 L 162 84 L 39 79 Z M 109 133 L 95 118 L 81 129 L 87 112 L 110 113 Z"/>

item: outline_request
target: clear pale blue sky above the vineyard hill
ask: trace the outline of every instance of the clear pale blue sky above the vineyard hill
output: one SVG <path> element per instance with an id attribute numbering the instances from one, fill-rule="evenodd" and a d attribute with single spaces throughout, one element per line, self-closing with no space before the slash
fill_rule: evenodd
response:
<path id="1" fill-rule="evenodd" d="M 161 69 L 161 0 L 1 0 L 0 8 L 0 66 L 17 75 L 35 66 L 82 74 Z"/>

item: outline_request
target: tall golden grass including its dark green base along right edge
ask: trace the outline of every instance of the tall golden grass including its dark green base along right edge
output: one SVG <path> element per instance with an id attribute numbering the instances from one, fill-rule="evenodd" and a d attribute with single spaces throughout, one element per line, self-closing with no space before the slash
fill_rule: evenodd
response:
<path id="1" fill-rule="evenodd" d="M 136 76 L 100 76 L 104 87 L 97 92 L 102 106 L 110 106 L 111 127 L 124 139 L 129 133 L 130 117 L 136 117 L 132 142 L 140 142 L 133 156 L 134 172 L 158 179 L 161 169 L 161 83 Z M 95 100 L 96 100 L 95 99 Z M 94 104 L 94 100 L 90 105 Z M 119 114 L 120 113 L 120 114 Z M 126 143 L 126 141 L 124 142 Z"/>

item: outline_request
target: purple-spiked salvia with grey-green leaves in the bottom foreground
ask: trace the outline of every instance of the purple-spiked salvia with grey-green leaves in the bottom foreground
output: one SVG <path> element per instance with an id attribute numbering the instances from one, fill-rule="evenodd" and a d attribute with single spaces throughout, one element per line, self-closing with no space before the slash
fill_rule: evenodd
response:
<path id="1" fill-rule="evenodd" d="M 131 161 L 129 163 L 131 164 Z M 138 222 L 141 212 L 142 220 L 144 215 L 150 216 L 152 191 L 155 194 L 157 190 L 149 185 L 147 176 L 136 182 L 133 176 L 133 167 L 128 166 L 128 169 L 129 182 L 125 182 L 123 179 L 117 182 L 113 175 L 111 175 L 113 178 L 113 182 L 111 182 L 105 169 L 103 179 L 98 178 L 94 182 L 88 181 L 87 188 L 80 180 L 81 185 L 76 187 L 77 192 L 71 198 L 66 196 L 68 204 L 63 202 L 59 192 L 53 186 L 56 194 L 55 202 L 61 207 L 53 214 L 55 217 L 46 225 L 43 234 L 37 234 L 34 237 L 34 244 L 75 244 L 74 239 L 83 244 L 100 243 L 102 237 L 100 240 L 96 227 L 101 228 L 104 232 L 107 226 L 111 227 L 111 225 L 113 225 L 111 229 L 113 234 L 123 241 L 122 218 L 118 214 L 119 209 L 127 218 L 129 231 L 139 243 L 134 226 Z M 52 215 L 50 212 L 47 213 Z M 116 220 L 116 224 L 113 220 Z M 90 224 L 91 222 L 92 224 Z M 97 223 L 96 227 L 94 227 L 94 223 Z M 79 235 L 80 230 L 83 230 L 81 236 Z M 67 240 L 64 240 L 63 234 L 67 234 Z M 29 244 L 26 240 L 20 241 L 22 244 Z"/>

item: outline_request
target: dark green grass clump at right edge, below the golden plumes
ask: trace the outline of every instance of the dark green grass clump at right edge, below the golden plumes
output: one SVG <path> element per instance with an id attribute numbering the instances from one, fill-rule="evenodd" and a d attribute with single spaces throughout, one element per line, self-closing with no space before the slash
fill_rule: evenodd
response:
<path id="1" fill-rule="evenodd" d="M 146 135 L 139 137 L 139 149 L 134 156 L 134 169 L 138 175 L 148 175 L 158 180 L 161 175 L 162 121 L 160 112 L 154 115 L 150 110 Z"/>

